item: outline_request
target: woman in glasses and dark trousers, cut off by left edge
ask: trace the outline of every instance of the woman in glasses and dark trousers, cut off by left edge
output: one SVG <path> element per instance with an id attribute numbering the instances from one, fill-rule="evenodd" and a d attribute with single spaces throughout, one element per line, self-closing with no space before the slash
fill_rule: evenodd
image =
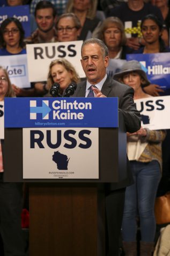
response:
<path id="1" fill-rule="evenodd" d="M 0 101 L 13 97 L 14 92 L 8 72 L 0 66 Z M 0 140 L 0 232 L 3 240 L 4 255 L 24 256 L 21 231 L 21 210 L 23 206 L 23 184 L 3 182 L 3 146 Z M 15 148 L 15 145 L 13 145 Z M 16 148 L 17 149 L 17 148 Z"/>

